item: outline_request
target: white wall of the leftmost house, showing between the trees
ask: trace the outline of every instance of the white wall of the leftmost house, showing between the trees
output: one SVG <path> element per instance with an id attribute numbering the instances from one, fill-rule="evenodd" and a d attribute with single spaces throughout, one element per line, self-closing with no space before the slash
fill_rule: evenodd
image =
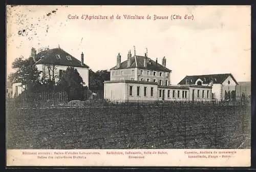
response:
<path id="1" fill-rule="evenodd" d="M 49 75 L 48 72 L 48 68 L 45 65 L 36 65 L 38 71 L 45 71 L 46 76 Z M 55 81 L 59 80 L 59 70 L 63 70 L 66 71 L 67 70 L 67 66 L 55 66 L 56 69 L 54 71 L 54 75 L 57 76 L 55 78 Z M 79 67 L 74 67 L 74 69 L 77 70 L 77 72 L 80 74 L 80 76 L 82 77 L 83 82 L 85 83 L 84 86 L 88 86 L 89 87 L 89 69 L 88 68 L 79 68 Z M 43 72 L 44 73 L 44 72 Z M 40 76 L 42 77 L 42 73 L 40 74 Z M 51 72 L 51 76 L 52 76 L 52 72 Z"/>

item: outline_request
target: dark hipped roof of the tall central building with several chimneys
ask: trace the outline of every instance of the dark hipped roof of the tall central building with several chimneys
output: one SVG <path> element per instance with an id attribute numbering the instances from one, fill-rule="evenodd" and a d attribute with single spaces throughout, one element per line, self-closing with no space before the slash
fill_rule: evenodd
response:
<path id="1" fill-rule="evenodd" d="M 160 65 L 159 63 L 156 63 L 156 61 L 154 61 L 148 57 L 147 57 L 147 67 L 144 67 L 144 58 L 145 58 L 145 56 L 134 55 L 131 58 L 131 66 L 130 67 L 127 67 L 127 60 L 125 60 L 125 61 L 121 62 L 119 68 L 116 68 L 116 66 L 115 66 L 115 67 L 111 68 L 110 70 L 129 69 L 129 68 L 137 67 L 140 69 L 147 69 L 147 70 L 152 70 L 152 71 L 172 72 L 172 70 L 169 70 L 168 68 Z"/>

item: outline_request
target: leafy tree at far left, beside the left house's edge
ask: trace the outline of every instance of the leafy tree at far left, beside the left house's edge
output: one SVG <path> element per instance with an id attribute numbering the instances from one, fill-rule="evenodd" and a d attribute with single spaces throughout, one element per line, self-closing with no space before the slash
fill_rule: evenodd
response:
<path id="1" fill-rule="evenodd" d="M 11 82 L 22 83 L 25 85 L 25 90 L 37 91 L 37 87 L 40 85 L 40 72 L 37 70 L 32 57 L 28 59 L 24 59 L 23 56 L 16 58 L 12 63 L 12 68 L 16 72 L 10 74 L 9 80 Z"/>

